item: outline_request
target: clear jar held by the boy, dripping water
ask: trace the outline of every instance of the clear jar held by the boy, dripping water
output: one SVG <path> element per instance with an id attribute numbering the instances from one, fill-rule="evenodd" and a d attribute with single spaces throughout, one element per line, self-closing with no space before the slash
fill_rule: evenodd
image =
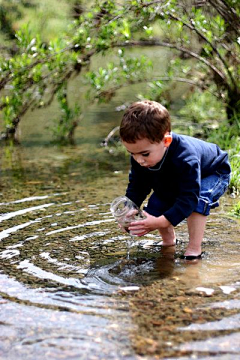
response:
<path id="1" fill-rule="evenodd" d="M 146 218 L 142 210 L 127 196 L 119 196 L 114 199 L 110 210 L 115 220 L 128 232 L 128 226 L 131 222 Z"/>

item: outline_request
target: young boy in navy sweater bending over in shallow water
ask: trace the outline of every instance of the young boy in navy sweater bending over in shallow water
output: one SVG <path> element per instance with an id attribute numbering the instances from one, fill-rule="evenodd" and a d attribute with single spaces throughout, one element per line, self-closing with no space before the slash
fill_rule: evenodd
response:
<path id="1" fill-rule="evenodd" d="M 207 215 L 219 206 L 228 187 L 228 155 L 217 145 L 171 133 L 167 109 L 155 101 L 133 103 L 120 125 L 123 145 L 131 154 L 126 196 L 138 206 L 151 192 L 146 218 L 129 230 L 142 236 L 158 230 L 163 246 L 176 243 L 174 227 L 187 219 L 189 243 L 184 259 L 201 258 Z"/>

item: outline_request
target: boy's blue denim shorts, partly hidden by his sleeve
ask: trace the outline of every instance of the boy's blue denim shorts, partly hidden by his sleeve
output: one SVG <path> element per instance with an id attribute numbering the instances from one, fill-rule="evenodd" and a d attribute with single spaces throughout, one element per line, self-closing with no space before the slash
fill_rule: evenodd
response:
<path id="1" fill-rule="evenodd" d="M 219 198 L 225 193 L 230 181 L 230 174 L 216 172 L 201 180 L 201 190 L 198 204 L 193 212 L 209 215 L 210 210 L 219 206 Z M 153 216 L 160 216 L 166 212 L 174 203 L 169 204 L 161 201 L 155 193 L 151 195 L 144 210 Z"/>

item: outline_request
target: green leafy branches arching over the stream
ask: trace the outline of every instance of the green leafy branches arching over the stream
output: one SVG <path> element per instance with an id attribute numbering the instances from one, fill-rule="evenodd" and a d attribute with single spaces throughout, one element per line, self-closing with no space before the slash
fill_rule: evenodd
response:
<path id="1" fill-rule="evenodd" d="M 185 81 L 202 90 L 211 88 L 225 104 L 229 124 L 240 114 L 240 4 L 238 0 L 95 1 L 73 21 L 66 34 L 49 43 L 28 28 L 16 33 L 18 51 L 0 62 L 0 109 L 3 139 L 15 138 L 23 115 L 48 106 L 56 94 L 65 111 L 59 138 L 73 139 L 80 116 L 62 89 L 74 76 L 84 76 L 98 53 L 118 54 L 104 68 L 88 72 L 91 96 L 109 100 L 125 84 L 151 81 L 151 59 L 129 58 L 124 48 L 142 46 L 172 49 L 164 82 Z M 116 49 L 116 50 L 115 50 Z M 192 66 L 186 59 L 194 59 Z M 84 75 L 83 75 L 84 74 Z M 77 106 L 78 105 L 78 106 Z M 63 117 L 59 120 L 63 121 Z"/>

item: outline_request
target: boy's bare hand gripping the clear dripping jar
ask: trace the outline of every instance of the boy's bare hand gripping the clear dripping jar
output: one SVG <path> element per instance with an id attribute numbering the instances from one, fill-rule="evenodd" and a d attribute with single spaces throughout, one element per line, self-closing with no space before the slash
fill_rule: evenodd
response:
<path id="1" fill-rule="evenodd" d="M 165 216 L 152 216 L 146 211 L 143 212 L 146 219 L 133 221 L 129 225 L 128 229 L 132 235 L 143 236 L 148 234 L 150 231 L 157 230 L 160 228 L 166 228 L 171 223 L 165 218 Z"/>

